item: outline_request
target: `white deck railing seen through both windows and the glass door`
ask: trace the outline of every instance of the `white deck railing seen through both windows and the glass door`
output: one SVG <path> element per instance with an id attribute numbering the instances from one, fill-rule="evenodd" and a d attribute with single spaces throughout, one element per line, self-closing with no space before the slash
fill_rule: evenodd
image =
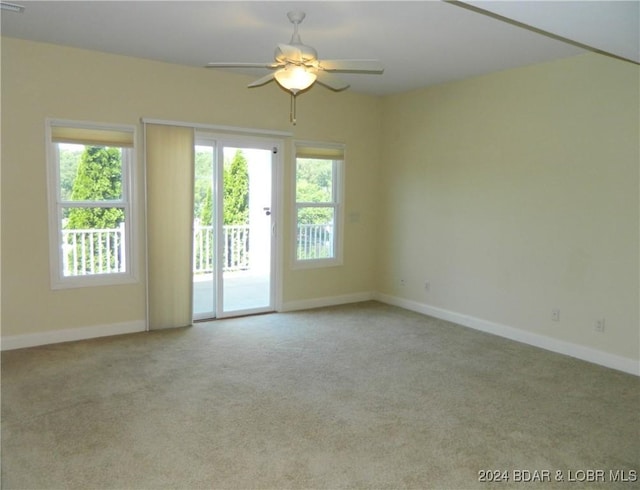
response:
<path id="1" fill-rule="evenodd" d="M 249 225 L 223 226 L 223 270 L 250 268 Z M 298 226 L 298 258 L 332 256 L 331 224 Z M 124 223 L 115 229 L 62 230 L 63 267 L 65 276 L 125 272 Z M 193 273 L 213 272 L 213 227 L 194 226 Z M 260 246 L 260 244 L 254 244 Z"/>

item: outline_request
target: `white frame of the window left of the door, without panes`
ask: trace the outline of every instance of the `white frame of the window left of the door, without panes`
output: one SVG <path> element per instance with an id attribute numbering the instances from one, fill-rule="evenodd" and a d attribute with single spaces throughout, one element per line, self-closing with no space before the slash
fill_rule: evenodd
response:
<path id="1" fill-rule="evenodd" d="M 60 165 L 58 145 L 53 141 L 52 132 L 55 127 L 79 130 L 117 131 L 131 133 L 133 147 L 123 147 L 122 151 L 122 199 L 113 201 L 64 201 L 60 193 Z M 66 119 L 46 119 L 46 157 L 47 157 L 47 190 L 49 206 L 49 265 L 52 289 L 80 288 L 91 286 L 110 286 L 137 282 L 137 263 L 133 258 L 136 237 L 134 236 L 135 216 L 133 203 L 135 199 L 135 159 L 136 159 L 136 126 L 102 124 Z M 88 274 L 65 276 L 62 243 L 62 210 L 68 207 L 119 207 L 124 208 L 125 263 L 126 271 L 105 274 Z"/>

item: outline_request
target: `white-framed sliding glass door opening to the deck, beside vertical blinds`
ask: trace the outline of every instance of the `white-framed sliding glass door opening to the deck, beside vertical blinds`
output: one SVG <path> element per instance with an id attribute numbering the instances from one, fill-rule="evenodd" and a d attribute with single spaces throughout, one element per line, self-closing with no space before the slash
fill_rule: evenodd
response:
<path id="1" fill-rule="evenodd" d="M 280 146 L 253 138 L 196 138 L 194 320 L 275 309 L 274 174 Z"/>

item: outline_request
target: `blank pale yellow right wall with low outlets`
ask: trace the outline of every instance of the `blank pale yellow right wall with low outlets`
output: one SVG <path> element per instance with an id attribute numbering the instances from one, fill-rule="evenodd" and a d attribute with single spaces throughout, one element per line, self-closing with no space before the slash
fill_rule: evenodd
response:
<path id="1" fill-rule="evenodd" d="M 638 359 L 638 89 L 587 54 L 385 98 L 378 290 Z"/>

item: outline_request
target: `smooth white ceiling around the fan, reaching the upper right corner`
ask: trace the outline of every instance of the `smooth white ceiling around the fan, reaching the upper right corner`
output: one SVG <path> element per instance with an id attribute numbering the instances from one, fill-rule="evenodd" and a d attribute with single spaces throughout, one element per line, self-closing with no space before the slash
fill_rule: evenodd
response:
<path id="1" fill-rule="evenodd" d="M 3 36 L 192 66 L 272 61 L 276 44 L 291 37 L 287 12 L 303 10 L 302 41 L 320 59 L 383 63 L 382 75 L 341 74 L 351 90 L 377 95 L 573 56 L 585 45 L 640 62 L 638 1 L 465 2 L 474 10 L 427 0 L 9 1 L 26 9 L 2 12 Z"/>

